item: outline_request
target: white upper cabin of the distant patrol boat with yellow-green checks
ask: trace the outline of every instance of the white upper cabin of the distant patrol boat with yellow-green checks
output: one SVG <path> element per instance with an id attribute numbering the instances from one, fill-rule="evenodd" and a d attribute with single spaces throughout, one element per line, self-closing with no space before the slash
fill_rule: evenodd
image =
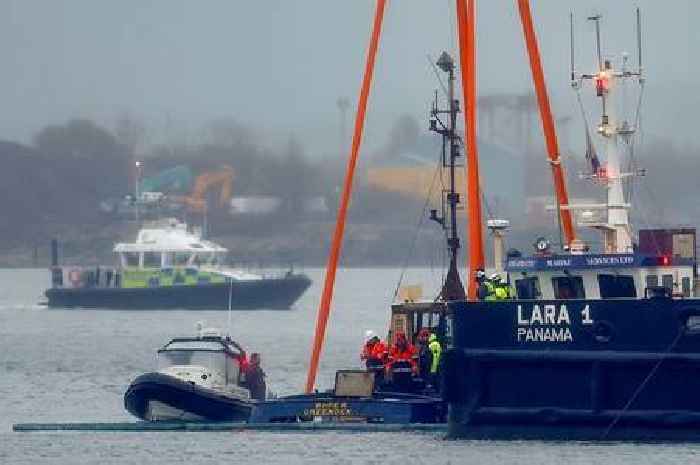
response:
<path id="1" fill-rule="evenodd" d="M 153 222 L 138 233 L 135 242 L 114 246 L 122 268 L 194 268 L 223 264 L 228 250 L 202 239 L 174 218 Z"/>

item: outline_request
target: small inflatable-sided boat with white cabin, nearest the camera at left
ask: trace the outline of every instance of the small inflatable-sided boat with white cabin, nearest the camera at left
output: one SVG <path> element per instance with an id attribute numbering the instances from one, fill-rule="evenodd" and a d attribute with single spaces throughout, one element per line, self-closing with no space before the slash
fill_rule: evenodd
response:
<path id="1" fill-rule="evenodd" d="M 158 350 L 155 372 L 138 376 L 124 394 L 129 413 L 146 421 L 247 421 L 266 397 L 259 355 L 250 360 L 229 336 L 198 329 Z"/>

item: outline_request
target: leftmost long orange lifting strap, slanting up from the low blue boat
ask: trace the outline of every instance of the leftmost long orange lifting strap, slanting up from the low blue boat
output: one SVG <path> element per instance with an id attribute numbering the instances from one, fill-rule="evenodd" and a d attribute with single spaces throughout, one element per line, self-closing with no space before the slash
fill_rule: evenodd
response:
<path id="1" fill-rule="evenodd" d="M 367 111 L 367 100 L 369 99 L 369 91 L 372 84 L 372 75 L 374 74 L 374 62 L 377 57 L 377 49 L 379 48 L 379 37 L 382 31 L 382 19 L 384 18 L 384 8 L 386 0 L 377 0 L 377 8 L 374 13 L 374 23 L 372 26 L 372 35 L 370 38 L 369 51 L 367 52 L 367 62 L 365 63 L 365 73 L 362 78 L 362 87 L 360 89 L 360 98 L 357 105 L 357 114 L 355 115 L 355 132 L 352 137 L 352 147 L 348 165 L 345 170 L 345 181 L 343 182 L 343 192 L 338 206 L 338 218 L 335 223 L 335 232 L 333 233 L 333 242 L 328 256 L 328 264 L 326 265 L 326 278 L 323 283 L 323 294 L 318 307 L 318 316 L 316 319 L 316 333 L 314 335 L 314 343 L 311 352 L 311 360 L 309 361 L 309 372 L 306 378 L 306 392 L 311 393 L 316 383 L 316 372 L 318 371 L 318 362 L 321 357 L 321 349 L 323 341 L 326 337 L 326 326 L 328 324 L 328 315 L 331 308 L 331 300 L 333 299 L 333 287 L 335 284 L 335 272 L 338 268 L 338 259 L 340 258 L 340 249 L 343 245 L 343 234 L 345 232 L 345 219 L 348 214 L 350 205 L 350 194 L 352 193 L 352 182 L 355 175 L 355 167 L 357 166 L 357 158 L 360 152 L 362 142 L 362 132 L 365 125 L 365 113 Z"/>

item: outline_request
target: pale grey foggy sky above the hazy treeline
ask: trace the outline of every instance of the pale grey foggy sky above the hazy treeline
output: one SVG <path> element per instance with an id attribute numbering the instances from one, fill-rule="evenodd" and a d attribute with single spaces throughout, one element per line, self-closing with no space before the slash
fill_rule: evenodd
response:
<path id="1" fill-rule="evenodd" d="M 532 0 L 557 116 L 575 116 L 569 11 L 580 71 L 593 70 L 600 12 L 604 52 L 635 57 L 642 8 L 645 130 L 695 144 L 700 3 L 693 0 Z M 336 99 L 357 98 L 371 0 L 0 0 L 0 138 L 27 142 L 49 123 L 125 113 L 159 133 L 234 117 L 296 133 L 315 153 L 337 147 Z M 478 1 L 479 93 L 532 88 L 515 1 Z M 426 54 L 455 52 L 454 0 L 390 0 L 365 147 L 401 114 L 427 119 L 436 81 Z M 672 133 L 671 131 L 678 131 Z"/>

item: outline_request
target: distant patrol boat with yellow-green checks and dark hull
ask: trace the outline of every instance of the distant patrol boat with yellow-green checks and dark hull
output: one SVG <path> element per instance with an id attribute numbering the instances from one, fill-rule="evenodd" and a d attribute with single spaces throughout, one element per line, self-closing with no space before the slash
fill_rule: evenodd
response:
<path id="1" fill-rule="evenodd" d="M 227 249 L 175 218 L 146 224 L 118 243 L 116 268 L 60 267 L 52 244 L 49 307 L 288 309 L 311 285 L 304 274 L 262 276 L 224 265 Z"/>

